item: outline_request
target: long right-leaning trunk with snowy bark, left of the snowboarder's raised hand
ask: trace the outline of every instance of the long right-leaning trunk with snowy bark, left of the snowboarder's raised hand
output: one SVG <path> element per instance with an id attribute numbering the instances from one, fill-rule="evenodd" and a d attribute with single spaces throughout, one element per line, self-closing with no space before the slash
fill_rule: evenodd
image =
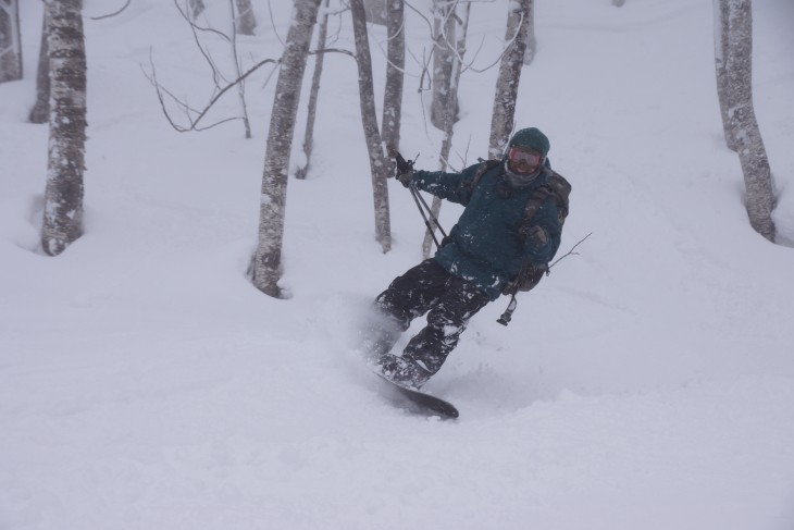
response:
<path id="1" fill-rule="evenodd" d="M 319 7 L 320 0 L 295 1 L 295 15 L 287 33 L 268 130 L 259 207 L 259 244 L 251 275 L 258 289 L 274 297 L 282 296 L 278 279 L 282 269 L 289 155 L 300 101 L 300 86 Z"/>

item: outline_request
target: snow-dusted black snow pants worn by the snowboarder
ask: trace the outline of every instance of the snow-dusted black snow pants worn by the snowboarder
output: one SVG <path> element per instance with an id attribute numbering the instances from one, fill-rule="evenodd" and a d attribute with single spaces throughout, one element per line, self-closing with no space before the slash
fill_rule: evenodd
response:
<path id="1" fill-rule="evenodd" d="M 458 344 L 469 319 L 488 301 L 488 296 L 472 283 L 454 276 L 435 259 L 427 259 L 396 278 L 375 298 L 385 322 L 381 322 L 373 354 L 388 353 L 411 321 L 426 312 L 427 325 L 410 340 L 402 357 L 434 374 Z"/>

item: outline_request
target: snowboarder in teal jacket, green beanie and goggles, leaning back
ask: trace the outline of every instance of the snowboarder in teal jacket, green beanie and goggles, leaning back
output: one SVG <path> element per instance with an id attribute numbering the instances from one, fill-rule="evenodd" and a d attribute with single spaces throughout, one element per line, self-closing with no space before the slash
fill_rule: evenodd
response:
<path id="1" fill-rule="evenodd" d="M 364 332 L 364 343 L 387 379 L 420 389 L 441 369 L 472 316 L 503 293 L 529 291 L 547 271 L 560 245 L 570 192 L 560 177 L 568 186 L 560 207 L 551 190 L 559 175 L 548 163 L 549 147 L 541 131 L 524 128 L 510 138 L 499 161 L 460 173 L 409 165 L 397 176 L 406 187 L 466 208 L 435 256 L 396 278 L 375 298 L 376 323 Z M 392 353 L 411 321 L 425 312 L 427 324 L 401 355 Z"/>

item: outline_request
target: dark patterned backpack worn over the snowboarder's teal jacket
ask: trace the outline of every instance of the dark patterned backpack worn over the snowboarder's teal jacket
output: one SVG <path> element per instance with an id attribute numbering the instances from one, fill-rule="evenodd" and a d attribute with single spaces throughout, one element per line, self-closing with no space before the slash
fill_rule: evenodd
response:
<path id="1" fill-rule="evenodd" d="M 480 164 L 480 168 L 477 168 L 476 173 L 474 173 L 474 178 L 472 178 L 470 189 L 473 190 L 476 187 L 476 185 L 480 183 L 480 178 L 482 178 L 485 172 L 496 168 L 500 163 L 503 163 L 501 160 L 483 161 Z M 551 172 L 551 178 L 549 180 L 549 183 L 535 189 L 532 196 L 530 196 L 530 199 L 526 201 L 526 206 L 524 207 L 524 214 L 521 218 L 521 227 L 519 229 L 519 233 L 524 239 L 530 235 L 530 231 L 532 229 L 532 219 L 541 209 L 541 206 L 549 197 L 554 197 L 555 204 L 557 205 L 557 220 L 560 223 L 560 229 L 562 229 L 562 225 L 566 222 L 566 218 L 568 217 L 568 198 L 571 195 L 571 183 L 569 183 L 565 176 L 560 175 L 553 169 L 548 167 L 547 169 Z M 514 278 L 508 284 L 507 288 L 512 289 L 512 294 L 514 294 L 516 291 L 531 291 L 535 285 L 541 282 L 541 280 L 543 280 L 543 276 L 548 275 L 548 263 L 533 267 L 524 267 L 521 272 L 519 272 L 518 278 Z"/>

